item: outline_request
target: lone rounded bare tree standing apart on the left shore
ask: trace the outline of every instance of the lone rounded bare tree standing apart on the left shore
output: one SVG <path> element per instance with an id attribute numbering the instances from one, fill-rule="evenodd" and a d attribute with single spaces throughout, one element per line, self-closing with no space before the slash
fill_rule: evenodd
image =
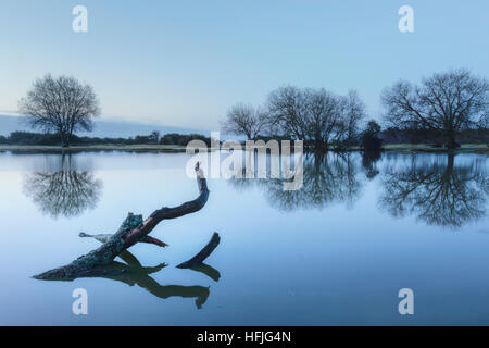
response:
<path id="1" fill-rule="evenodd" d="M 100 114 L 99 101 L 89 85 L 76 78 L 50 74 L 35 80 L 27 96 L 18 101 L 21 114 L 34 128 L 58 133 L 63 147 L 78 130 L 91 130 L 92 117 Z"/>

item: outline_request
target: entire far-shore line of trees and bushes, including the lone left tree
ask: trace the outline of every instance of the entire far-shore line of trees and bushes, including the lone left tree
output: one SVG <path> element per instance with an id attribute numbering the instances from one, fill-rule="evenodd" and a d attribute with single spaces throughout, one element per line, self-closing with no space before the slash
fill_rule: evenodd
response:
<path id="1" fill-rule="evenodd" d="M 388 142 L 428 142 L 455 149 L 461 141 L 488 140 L 489 83 L 467 70 L 436 73 L 414 85 L 399 80 L 385 88 L 381 125 L 368 121 L 366 107 L 355 90 L 337 95 L 324 88 L 285 86 L 273 90 L 263 105 L 237 103 L 229 109 L 222 129 L 247 139 L 297 139 L 306 148 L 325 151 L 360 146 L 379 150 Z M 100 114 L 99 100 L 89 85 L 74 77 L 46 75 L 33 84 L 18 102 L 21 114 L 45 134 L 14 132 L 0 137 L 4 144 L 163 144 L 187 145 L 201 135 L 159 132 L 134 138 L 78 137 L 89 132 Z M 381 129 L 384 126 L 384 130 Z"/>

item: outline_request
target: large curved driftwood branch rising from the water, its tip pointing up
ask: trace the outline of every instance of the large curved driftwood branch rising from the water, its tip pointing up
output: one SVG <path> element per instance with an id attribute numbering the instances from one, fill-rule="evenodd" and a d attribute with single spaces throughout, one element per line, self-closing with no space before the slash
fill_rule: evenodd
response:
<path id="1" fill-rule="evenodd" d="M 205 206 L 209 198 L 209 189 L 199 163 L 196 165 L 197 185 L 199 197 L 181 206 L 155 210 L 147 220 L 142 215 L 129 213 L 117 232 L 110 236 L 100 237 L 103 245 L 89 253 L 79 257 L 72 263 L 35 275 L 37 279 L 73 279 L 82 276 L 96 276 L 112 272 L 109 264 L 124 250 L 136 243 L 150 243 L 161 247 L 166 246 L 163 241 L 149 237 L 148 234 L 163 220 L 176 219 L 199 211 Z M 87 234 L 80 234 L 88 236 Z M 100 239 L 99 239 L 100 240 Z M 114 271 L 116 272 L 116 271 Z"/>

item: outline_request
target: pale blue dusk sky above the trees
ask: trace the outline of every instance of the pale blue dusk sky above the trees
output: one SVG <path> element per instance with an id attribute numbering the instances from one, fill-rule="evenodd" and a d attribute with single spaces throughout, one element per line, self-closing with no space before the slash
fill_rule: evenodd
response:
<path id="1" fill-rule="evenodd" d="M 72 29 L 76 5 L 87 33 Z M 356 89 L 379 120 L 399 78 L 489 77 L 488 35 L 487 0 L 0 0 L 0 113 L 52 73 L 90 84 L 103 120 L 216 130 L 234 103 L 285 85 Z"/>

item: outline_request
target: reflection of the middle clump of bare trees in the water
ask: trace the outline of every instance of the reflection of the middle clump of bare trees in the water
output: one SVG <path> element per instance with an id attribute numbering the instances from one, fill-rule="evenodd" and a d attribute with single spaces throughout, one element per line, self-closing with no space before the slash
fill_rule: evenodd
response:
<path id="1" fill-rule="evenodd" d="M 259 186 L 266 192 L 269 203 L 280 210 L 323 208 L 333 202 L 351 206 L 359 197 L 362 184 L 359 167 L 351 153 L 305 156 L 303 186 L 298 190 L 284 190 L 284 179 L 231 179 L 238 189 Z"/>

